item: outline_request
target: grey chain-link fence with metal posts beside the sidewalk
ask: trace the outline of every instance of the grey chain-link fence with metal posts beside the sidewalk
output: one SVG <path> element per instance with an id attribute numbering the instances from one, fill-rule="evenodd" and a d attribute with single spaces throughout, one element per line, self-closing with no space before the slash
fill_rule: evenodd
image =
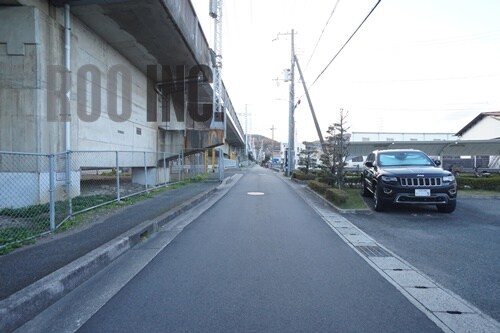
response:
<path id="1" fill-rule="evenodd" d="M 220 180 L 217 168 L 218 158 L 207 151 L 0 152 L 0 249 L 154 188 L 199 175 Z"/>

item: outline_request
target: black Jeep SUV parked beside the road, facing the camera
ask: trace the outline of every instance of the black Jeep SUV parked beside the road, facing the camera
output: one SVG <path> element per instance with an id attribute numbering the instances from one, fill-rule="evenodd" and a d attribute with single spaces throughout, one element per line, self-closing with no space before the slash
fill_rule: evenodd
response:
<path id="1" fill-rule="evenodd" d="M 392 204 L 433 204 L 451 213 L 457 204 L 457 182 L 440 164 L 420 150 L 376 150 L 365 162 L 362 194 L 373 196 L 376 211 Z"/>

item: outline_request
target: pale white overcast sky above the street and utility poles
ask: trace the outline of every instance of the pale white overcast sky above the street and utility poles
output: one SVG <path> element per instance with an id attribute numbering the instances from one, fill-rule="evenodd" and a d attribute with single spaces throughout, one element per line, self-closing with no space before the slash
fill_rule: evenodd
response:
<path id="1" fill-rule="evenodd" d="M 209 0 L 192 3 L 213 45 Z M 323 135 L 341 108 L 351 132 L 456 133 L 480 112 L 500 110 L 498 0 L 382 0 L 318 78 L 376 3 L 224 0 L 222 79 L 236 112 L 247 108 L 250 133 L 271 137 L 274 125 L 275 139 L 288 141 L 291 40 L 283 34 L 291 29 Z M 317 140 L 295 75 L 297 140 Z"/>

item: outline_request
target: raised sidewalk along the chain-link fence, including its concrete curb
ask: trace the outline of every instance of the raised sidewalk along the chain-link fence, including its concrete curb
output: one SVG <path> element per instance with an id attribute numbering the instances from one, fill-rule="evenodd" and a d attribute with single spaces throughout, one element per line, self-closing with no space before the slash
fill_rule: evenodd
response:
<path id="1" fill-rule="evenodd" d="M 223 183 L 239 171 L 226 173 Z M 172 189 L 0 256 L 0 331 L 29 320 L 220 185 L 205 181 Z"/>

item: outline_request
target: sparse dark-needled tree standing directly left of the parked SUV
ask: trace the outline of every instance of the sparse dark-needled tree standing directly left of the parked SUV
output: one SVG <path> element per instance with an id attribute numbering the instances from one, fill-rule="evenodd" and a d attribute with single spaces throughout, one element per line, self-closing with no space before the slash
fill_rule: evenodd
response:
<path id="1" fill-rule="evenodd" d="M 327 168 L 329 176 L 335 179 L 338 188 L 344 187 L 344 166 L 349 156 L 349 139 L 347 133 L 347 117 L 349 111 L 340 109 L 339 122 L 328 126 L 328 136 L 325 139 L 326 153 L 321 155 L 321 161 Z"/>

